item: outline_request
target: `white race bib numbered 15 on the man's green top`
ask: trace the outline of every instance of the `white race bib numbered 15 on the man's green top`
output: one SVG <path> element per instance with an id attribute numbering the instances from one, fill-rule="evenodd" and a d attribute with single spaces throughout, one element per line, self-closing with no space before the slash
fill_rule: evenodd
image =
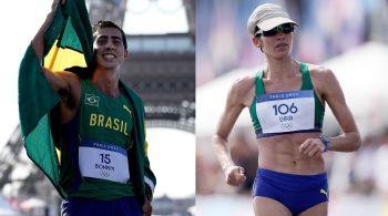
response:
<path id="1" fill-rule="evenodd" d="M 83 177 L 126 183 L 130 179 L 126 151 L 123 147 L 98 142 L 82 142 L 79 165 Z"/>

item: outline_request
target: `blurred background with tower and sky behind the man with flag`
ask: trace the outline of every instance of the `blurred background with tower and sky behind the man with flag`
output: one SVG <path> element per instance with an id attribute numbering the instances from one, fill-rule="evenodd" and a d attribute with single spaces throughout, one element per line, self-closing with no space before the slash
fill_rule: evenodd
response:
<path id="1" fill-rule="evenodd" d="M 121 79 L 143 99 L 154 215 L 195 213 L 194 0 L 85 0 L 92 23 L 123 27 L 130 58 Z M 18 126 L 18 70 L 52 0 L 1 2 L 0 216 L 60 215 L 61 199 L 27 157 Z M 178 177 L 176 177 L 178 176 Z"/>

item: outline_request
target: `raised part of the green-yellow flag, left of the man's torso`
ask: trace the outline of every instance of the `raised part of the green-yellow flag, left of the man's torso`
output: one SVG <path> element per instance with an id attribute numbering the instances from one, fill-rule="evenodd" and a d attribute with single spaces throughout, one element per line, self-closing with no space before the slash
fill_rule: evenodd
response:
<path id="1" fill-rule="evenodd" d="M 32 44 L 29 45 L 19 71 L 19 115 L 27 154 L 49 177 L 62 197 L 59 154 L 50 128 L 50 110 L 59 102 L 41 71 L 71 66 L 88 66 L 93 58 L 93 37 L 83 0 L 67 0 L 59 6 L 44 32 L 43 62 L 39 62 Z"/>

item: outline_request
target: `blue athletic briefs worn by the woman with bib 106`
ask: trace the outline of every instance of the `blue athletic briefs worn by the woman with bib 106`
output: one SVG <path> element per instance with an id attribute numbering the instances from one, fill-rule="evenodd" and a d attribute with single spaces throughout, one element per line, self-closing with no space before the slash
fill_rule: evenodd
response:
<path id="1" fill-rule="evenodd" d="M 275 199 L 285 205 L 293 215 L 328 202 L 326 173 L 296 175 L 265 168 L 257 169 L 253 184 L 253 196 Z"/>

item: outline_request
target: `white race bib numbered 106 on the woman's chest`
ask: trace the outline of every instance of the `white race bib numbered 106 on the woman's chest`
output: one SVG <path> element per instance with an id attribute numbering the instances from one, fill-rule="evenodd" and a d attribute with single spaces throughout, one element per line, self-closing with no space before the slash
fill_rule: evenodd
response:
<path id="1" fill-rule="evenodd" d="M 269 93 L 256 99 L 256 114 L 263 134 L 314 128 L 313 90 Z"/>

